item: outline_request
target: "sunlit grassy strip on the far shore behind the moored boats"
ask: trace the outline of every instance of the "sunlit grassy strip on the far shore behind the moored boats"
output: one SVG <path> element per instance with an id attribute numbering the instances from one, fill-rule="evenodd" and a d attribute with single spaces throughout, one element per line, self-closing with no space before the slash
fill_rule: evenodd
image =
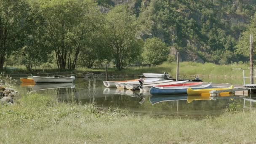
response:
<path id="1" fill-rule="evenodd" d="M 179 67 L 179 74 L 182 78 L 190 78 L 195 75 L 199 77 L 231 77 L 241 78 L 243 77 L 243 70 L 248 68 L 248 64 L 229 64 L 229 65 L 217 65 L 211 63 L 195 63 L 195 62 L 181 62 Z M 43 69 L 37 69 L 27 71 L 25 67 L 19 66 L 19 70 L 8 70 L 7 73 L 12 74 L 31 74 L 31 73 L 43 73 Z M 93 72 L 93 73 L 104 73 L 105 69 L 88 69 L 77 67 L 77 72 Z M 44 69 L 44 73 L 58 72 L 58 69 Z M 143 67 L 143 68 L 125 68 L 118 71 L 115 68 L 108 69 L 109 75 L 141 75 L 142 73 L 163 73 L 168 72 L 171 76 L 176 75 L 176 63 L 164 63 L 156 67 Z"/>

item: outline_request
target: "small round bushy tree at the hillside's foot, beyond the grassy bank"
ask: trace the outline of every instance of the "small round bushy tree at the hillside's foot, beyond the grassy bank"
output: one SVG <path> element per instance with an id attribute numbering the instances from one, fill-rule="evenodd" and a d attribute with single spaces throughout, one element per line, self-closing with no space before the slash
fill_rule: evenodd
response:
<path id="1" fill-rule="evenodd" d="M 166 61 L 169 54 L 169 48 L 165 43 L 160 40 L 160 38 L 153 37 L 147 39 L 144 47 L 142 57 L 144 62 L 148 64 L 161 64 Z"/>

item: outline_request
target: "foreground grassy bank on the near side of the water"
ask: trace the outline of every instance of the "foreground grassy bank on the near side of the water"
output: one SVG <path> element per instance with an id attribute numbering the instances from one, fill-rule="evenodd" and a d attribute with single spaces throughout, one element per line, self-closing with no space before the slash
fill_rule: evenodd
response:
<path id="1" fill-rule="evenodd" d="M 0 143 L 247 143 L 256 141 L 255 119 L 255 111 L 203 120 L 152 118 L 29 94 L 0 105 Z"/>

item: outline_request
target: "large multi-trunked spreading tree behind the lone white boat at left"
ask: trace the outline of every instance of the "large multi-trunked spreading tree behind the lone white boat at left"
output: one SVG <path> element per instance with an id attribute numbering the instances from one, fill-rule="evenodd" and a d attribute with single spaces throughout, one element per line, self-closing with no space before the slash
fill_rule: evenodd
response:
<path id="1" fill-rule="evenodd" d="M 75 69 L 80 50 L 99 26 L 99 9 L 85 0 L 42 0 L 42 3 L 46 37 L 56 53 L 58 67 Z"/>

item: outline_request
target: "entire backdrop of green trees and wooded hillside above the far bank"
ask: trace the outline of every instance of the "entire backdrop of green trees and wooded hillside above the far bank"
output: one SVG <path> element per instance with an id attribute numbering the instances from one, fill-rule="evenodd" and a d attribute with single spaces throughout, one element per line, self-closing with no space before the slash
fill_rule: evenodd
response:
<path id="1" fill-rule="evenodd" d="M 254 0 L 0 0 L 0 71 L 121 70 L 172 62 L 177 51 L 181 61 L 243 63 L 255 11 Z"/>

